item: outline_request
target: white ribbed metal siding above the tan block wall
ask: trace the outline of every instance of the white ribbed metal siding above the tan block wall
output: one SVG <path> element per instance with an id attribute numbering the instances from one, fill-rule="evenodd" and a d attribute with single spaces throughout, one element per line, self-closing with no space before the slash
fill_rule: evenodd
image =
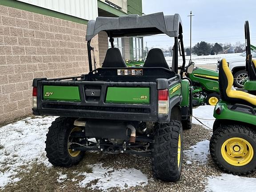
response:
<path id="1" fill-rule="evenodd" d="M 97 0 L 18 0 L 27 4 L 75 16 L 95 20 L 98 16 Z"/>

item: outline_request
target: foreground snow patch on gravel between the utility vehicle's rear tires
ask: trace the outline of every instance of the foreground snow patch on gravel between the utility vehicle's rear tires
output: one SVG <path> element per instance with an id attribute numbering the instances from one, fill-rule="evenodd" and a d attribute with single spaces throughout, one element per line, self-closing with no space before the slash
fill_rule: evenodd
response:
<path id="1" fill-rule="evenodd" d="M 88 187 L 87 185 L 93 180 L 97 180 L 97 183 L 92 184 L 91 188 L 103 191 L 113 187 L 124 189 L 135 187 L 136 185 L 145 186 L 148 184 L 147 176 L 134 168 L 115 170 L 113 168 L 104 168 L 102 164 L 94 164 L 91 167 L 92 173 L 78 173 L 78 176 L 85 176 L 84 180 L 78 184 L 80 187 Z"/>

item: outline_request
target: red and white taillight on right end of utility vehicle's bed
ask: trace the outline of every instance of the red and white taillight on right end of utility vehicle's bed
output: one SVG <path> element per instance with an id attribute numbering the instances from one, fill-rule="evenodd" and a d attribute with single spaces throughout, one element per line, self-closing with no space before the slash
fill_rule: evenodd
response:
<path id="1" fill-rule="evenodd" d="M 158 90 L 158 114 L 168 114 L 169 92 L 168 89 Z"/>

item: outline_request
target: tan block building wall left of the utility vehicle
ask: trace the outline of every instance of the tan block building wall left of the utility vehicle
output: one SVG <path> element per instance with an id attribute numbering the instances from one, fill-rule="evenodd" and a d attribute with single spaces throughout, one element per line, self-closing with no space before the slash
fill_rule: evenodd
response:
<path id="1" fill-rule="evenodd" d="M 88 72 L 86 27 L 0 5 L 0 124 L 31 114 L 33 78 Z"/>

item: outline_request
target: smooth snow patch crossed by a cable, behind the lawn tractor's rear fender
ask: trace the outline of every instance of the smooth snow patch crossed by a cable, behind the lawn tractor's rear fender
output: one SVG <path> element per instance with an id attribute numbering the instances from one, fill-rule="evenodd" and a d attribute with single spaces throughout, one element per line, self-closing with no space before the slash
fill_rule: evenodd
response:
<path id="1" fill-rule="evenodd" d="M 213 117 L 214 108 L 215 108 L 215 106 L 212 106 L 212 105 L 202 105 L 202 106 L 199 106 L 198 108 L 193 108 L 193 116 L 200 118 L 199 120 L 203 124 L 205 124 L 206 126 L 208 126 L 209 128 L 212 129 L 212 126 L 213 126 L 213 123 L 215 120 L 215 118 Z M 192 123 L 202 125 L 194 117 L 192 118 Z M 202 125 L 202 126 L 204 128 L 207 128 L 204 125 Z"/>

